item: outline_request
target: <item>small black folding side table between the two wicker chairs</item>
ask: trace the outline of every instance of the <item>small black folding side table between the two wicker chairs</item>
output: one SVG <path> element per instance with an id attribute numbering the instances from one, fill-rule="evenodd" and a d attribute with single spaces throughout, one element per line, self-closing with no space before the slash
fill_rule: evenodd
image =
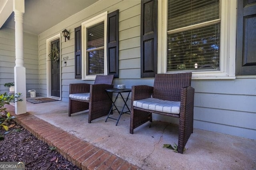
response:
<path id="1" fill-rule="evenodd" d="M 116 95 L 116 99 L 118 98 L 118 95 L 120 95 L 120 96 L 122 97 L 123 101 L 124 101 L 124 106 L 123 106 L 123 108 L 122 108 L 122 111 L 119 111 L 119 110 L 117 109 L 116 105 L 115 105 L 116 99 L 113 101 L 113 100 L 111 99 L 111 97 L 108 95 L 109 99 L 112 101 L 112 107 L 111 107 L 111 109 L 110 109 L 110 111 L 109 111 L 109 113 L 108 113 L 108 116 L 107 116 L 105 122 L 107 122 L 108 118 L 114 119 L 114 120 L 117 121 L 117 122 L 116 122 L 116 126 L 117 126 L 118 121 L 119 121 L 119 119 L 120 119 L 120 117 L 121 117 L 122 114 L 126 113 L 126 114 L 129 114 L 129 115 L 130 115 L 130 113 L 131 113 L 131 111 L 130 111 L 130 109 L 129 109 L 129 107 L 128 107 L 128 105 L 127 105 L 126 102 L 128 101 L 128 97 L 129 97 L 130 92 L 132 91 L 132 89 L 117 89 L 117 88 L 113 88 L 113 89 L 105 89 L 105 91 L 107 92 L 107 94 L 108 94 L 108 92 L 118 93 L 118 94 Z M 128 95 L 127 95 L 127 97 L 126 97 L 125 100 L 124 100 L 124 97 L 123 97 L 123 95 L 122 95 L 121 93 L 128 93 Z M 126 112 L 124 112 L 124 107 L 125 107 L 125 106 L 126 106 L 127 109 L 128 109 L 128 111 L 126 111 Z M 112 110 L 113 107 L 115 107 L 116 109 Z M 118 113 L 119 113 L 118 119 L 115 119 L 115 118 L 113 118 L 113 117 L 109 117 L 109 115 L 112 113 L 112 111 L 115 111 L 115 110 L 118 111 Z M 129 112 L 130 112 L 130 113 L 129 113 Z"/>

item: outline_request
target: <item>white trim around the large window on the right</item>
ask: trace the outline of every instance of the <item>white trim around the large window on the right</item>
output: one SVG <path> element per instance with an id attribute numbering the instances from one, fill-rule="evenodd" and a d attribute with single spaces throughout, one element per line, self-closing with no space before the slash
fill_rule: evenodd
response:
<path id="1" fill-rule="evenodd" d="M 167 2 L 158 0 L 158 73 L 167 73 Z M 220 71 L 192 71 L 192 79 L 236 78 L 236 0 L 220 0 L 220 3 Z M 171 73 L 177 72 L 180 71 Z"/>

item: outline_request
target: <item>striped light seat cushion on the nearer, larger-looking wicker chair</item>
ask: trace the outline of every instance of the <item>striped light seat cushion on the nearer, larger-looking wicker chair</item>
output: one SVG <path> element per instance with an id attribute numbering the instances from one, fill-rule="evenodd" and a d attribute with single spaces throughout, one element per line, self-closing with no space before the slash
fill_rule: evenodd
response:
<path id="1" fill-rule="evenodd" d="M 167 101 L 161 99 L 147 98 L 133 101 L 133 106 L 151 111 L 180 114 L 179 101 Z"/>

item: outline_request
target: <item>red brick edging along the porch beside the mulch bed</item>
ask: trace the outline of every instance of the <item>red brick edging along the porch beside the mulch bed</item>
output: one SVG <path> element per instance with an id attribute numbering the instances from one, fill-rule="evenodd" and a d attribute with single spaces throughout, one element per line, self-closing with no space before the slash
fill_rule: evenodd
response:
<path id="1" fill-rule="evenodd" d="M 98 148 L 89 142 L 43 121 L 29 113 L 15 115 L 14 106 L 7 105 L 7 111 L 15 116 L 15 121 L 31 132 L 36 138 L 55 146 L 65 159 L 82 170 L 137 170 L 137 166 L 126 160 Z"/>

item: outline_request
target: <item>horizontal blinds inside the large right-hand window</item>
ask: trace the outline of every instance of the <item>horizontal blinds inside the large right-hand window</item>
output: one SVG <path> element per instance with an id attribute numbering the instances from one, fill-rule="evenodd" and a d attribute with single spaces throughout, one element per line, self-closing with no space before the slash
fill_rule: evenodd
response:
<path id="1" fill-rule="evenodd" d="M 219 0 L 168 1 L 167 71 L 220 69 L 219 18 Z"/>

